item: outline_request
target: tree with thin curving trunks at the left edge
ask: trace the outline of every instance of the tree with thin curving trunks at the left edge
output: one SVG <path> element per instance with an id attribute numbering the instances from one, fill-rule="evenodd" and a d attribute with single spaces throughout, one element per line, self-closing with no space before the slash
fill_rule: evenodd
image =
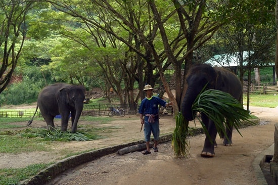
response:
<path id="1" fill-rule="evenodd" d="M 27 34 L 27 14 L 35 1 L 0 2 L 0 93 L 8 86 Z"/>

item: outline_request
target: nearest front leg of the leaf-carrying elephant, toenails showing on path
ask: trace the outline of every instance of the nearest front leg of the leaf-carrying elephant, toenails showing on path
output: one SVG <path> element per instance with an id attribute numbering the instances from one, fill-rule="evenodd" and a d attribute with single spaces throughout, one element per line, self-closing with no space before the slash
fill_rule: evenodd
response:
<path id="1" fill-rule="evenodd" d="M 209 135 L 206 135 L 204 148 L 201 153 L 202 157 L 214 157 L 214 148 L 217 146 L 215 142 L 215 138 L 217 135 L 217 130 L 213 121 L 209 120 L 209 124 L 207 127 Z"/>

